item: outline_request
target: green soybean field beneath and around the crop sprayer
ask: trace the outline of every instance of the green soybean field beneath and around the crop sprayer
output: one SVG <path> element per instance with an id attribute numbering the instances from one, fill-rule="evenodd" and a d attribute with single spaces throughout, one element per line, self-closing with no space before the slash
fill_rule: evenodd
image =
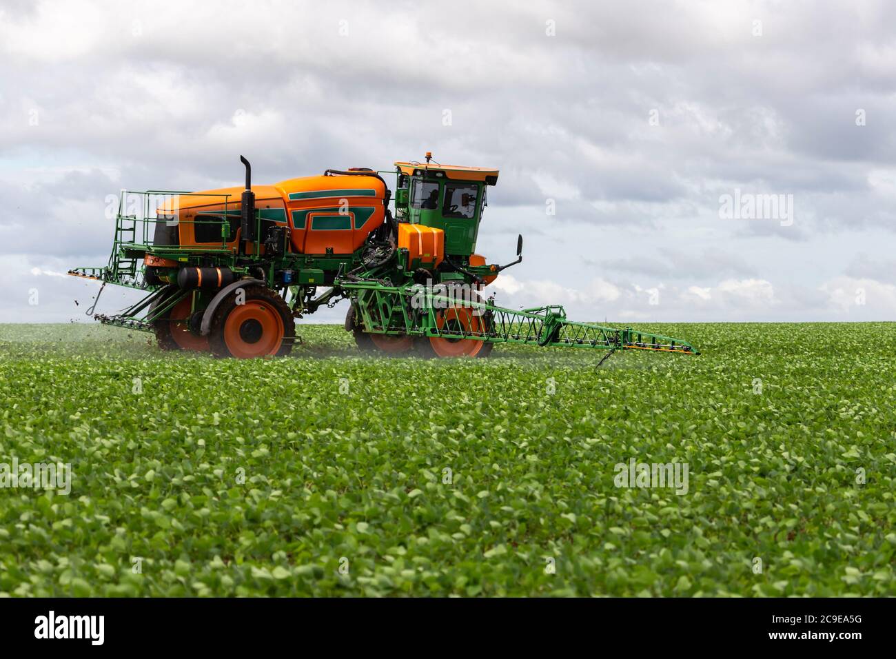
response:
<path id="1" fill-rule="evenodd" d="M 896 594 L 896 324 L 644 329 L 702 354 L 0 325 L 0 595 Z"/>

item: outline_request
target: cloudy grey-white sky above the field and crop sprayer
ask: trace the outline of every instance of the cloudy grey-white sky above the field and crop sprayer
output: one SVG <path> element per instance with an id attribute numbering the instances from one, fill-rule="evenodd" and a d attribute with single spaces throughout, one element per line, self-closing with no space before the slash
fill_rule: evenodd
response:
<path id="1" fill-rule="evenodd" d="M 896 319 L 892 2 L 0 0 L 0 52 L 3 322 L 86 320 L 122 187 L 426 151 L 501 170 L 504 306 Z"/>

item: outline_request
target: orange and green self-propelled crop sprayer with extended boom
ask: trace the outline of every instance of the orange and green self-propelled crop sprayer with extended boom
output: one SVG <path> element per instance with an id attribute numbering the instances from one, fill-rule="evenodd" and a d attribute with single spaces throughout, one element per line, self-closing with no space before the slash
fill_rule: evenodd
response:
<path id="1" fill-rule="evenodd" d="M 69 274 L 146 295 L 95 318 L 154 333 L 166 350 L 262 357 L 291 350 L 296 317 L 345 298 L 345 327 L 362 350 L 485 357 L 495 343 L 522 343 L 698 354 L 667 336 L 569 321 L 562 307 L 513 310 L 480 297 L 522 260 L 521 236 L 513 263 L 475 253 L 496 169 L 440 165 L 427 153 L 394 172 L 327 169 L 253 187 L 240 160 L 245 189 L 122 191 L 108 265 Z M 394 215 L 381 174 L 397 179 Z"/>

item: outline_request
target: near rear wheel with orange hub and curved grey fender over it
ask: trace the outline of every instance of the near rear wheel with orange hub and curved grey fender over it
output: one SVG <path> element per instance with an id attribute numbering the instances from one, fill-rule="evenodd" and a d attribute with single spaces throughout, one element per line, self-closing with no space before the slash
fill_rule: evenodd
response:
<path id="1" fill-rule="evenodd" d="M 211 351 L 217 357 L 281 357 L 289 354 L 296 321 L 285 301 L 266 286 L 244 289 L 243 304 L 236 291 L 224 299 L 211 320 Z"/>

